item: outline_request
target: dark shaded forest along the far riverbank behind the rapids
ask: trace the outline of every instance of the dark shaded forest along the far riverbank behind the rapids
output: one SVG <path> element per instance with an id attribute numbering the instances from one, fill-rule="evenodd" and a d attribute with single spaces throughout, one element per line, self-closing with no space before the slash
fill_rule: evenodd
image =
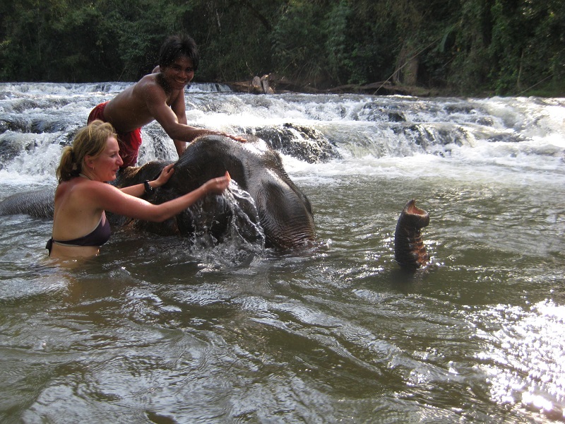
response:
<path id="1" fill-rule="evenodd" d="M 0 79 L 136 81 L 179 32 L 194 81 L 565 95 L 562 0 L 2 0 Z"/>

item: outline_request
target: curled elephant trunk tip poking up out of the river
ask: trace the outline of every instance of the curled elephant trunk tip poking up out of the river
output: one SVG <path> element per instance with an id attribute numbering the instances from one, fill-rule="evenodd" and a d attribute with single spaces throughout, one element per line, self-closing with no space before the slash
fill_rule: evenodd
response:
<path id="1" fill-rule="evenodd" d="M 429 213 L 410 200 L 398 218 L 394 233 L 394 259 L 402 269 L 416 271 L 429 261 L 420 230 L 429 224 Z"/>

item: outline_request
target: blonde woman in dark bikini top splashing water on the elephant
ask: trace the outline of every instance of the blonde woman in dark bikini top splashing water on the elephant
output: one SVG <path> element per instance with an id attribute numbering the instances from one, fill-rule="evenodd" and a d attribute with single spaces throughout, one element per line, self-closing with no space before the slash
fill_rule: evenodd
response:
<path id="1" fill-rule="evenodd" d="M 163 204 L 140 199 L 146 191 L 161 187 L 171 177 L 172 164 L 157 179 L 118 189 L 107 184 L 116 179 L 123 164 L 117 136 L 111 124 L 96 120 L 75 136 L 57 168 L 59 186 L 55 192 L 52 238 L 49 256 L 91 257 L 110 236 L 105 211 L 130 218 L 162 222 L 184 211 L 208 193 L 221 194 L 230 184 L 230 174 L 213 178 L 193 192 Z"/>

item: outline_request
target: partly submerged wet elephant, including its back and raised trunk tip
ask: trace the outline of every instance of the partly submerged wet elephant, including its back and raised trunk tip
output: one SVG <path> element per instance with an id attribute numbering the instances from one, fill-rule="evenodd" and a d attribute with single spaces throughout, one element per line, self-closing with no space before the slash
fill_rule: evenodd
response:
<path id="1" fill-rule="evenodd" d="M 191 192 L 210 178 L 224 175 L 226 170 L 239 191 L 230 186 L 222 196 L 208 195 L 165 223 L 108 214 L 110 222 L 160 235 L 207 232 L 215 240 L 222 240 L 230 227 L 235 226 L 247 241 L 264 240 L 265 247 L 282 250 L 311 247 L 316 231 L 309 199 L 287 175 L 276 151 L 261 139 L 246 138 L 246 143 L 239 143 L 225 136 L 199 137 L 174 163 L 174 173 L 167 184 L 145 194 L 144 198 L 160 204 Z M 127 167 L 119 172 L 113 184 L 127 187 L 155 179 L 169 163 L 172 162 L 155 160 L 141 167 Z M 16 194 L 0 202 L 0 215 L 28 213 L 37 218 L 52 218 L 53 199 L 51 189 Z M 414 200 L 406 204 L 395 234 L 395 259 L 402 269 L 414 271 L 427 262 L 420 230 L 428 223 L 429 214 L 417 208 Z"/>

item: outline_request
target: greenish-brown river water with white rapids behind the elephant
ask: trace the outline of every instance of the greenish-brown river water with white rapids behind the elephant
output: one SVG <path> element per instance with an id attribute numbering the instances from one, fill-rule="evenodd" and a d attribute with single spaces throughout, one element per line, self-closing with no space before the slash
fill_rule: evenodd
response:
<path id="1" fill-rule="evenodd" d="M 0 199 L 52 187 L 124 83 L 0 84 Z M 565 420 L 565 100 L 186 92 L 191 124 L 318 131 L 283 154 L 317 245 L 278 253 L 114 229 L 76 268 L 0 220 L 2 423 Z M 140 163 L 174 159 L 157 124 Z M 309 143 L 299 131 L 297 141 Z M 432 258 L 393 260 L 404 204 Z"/>

